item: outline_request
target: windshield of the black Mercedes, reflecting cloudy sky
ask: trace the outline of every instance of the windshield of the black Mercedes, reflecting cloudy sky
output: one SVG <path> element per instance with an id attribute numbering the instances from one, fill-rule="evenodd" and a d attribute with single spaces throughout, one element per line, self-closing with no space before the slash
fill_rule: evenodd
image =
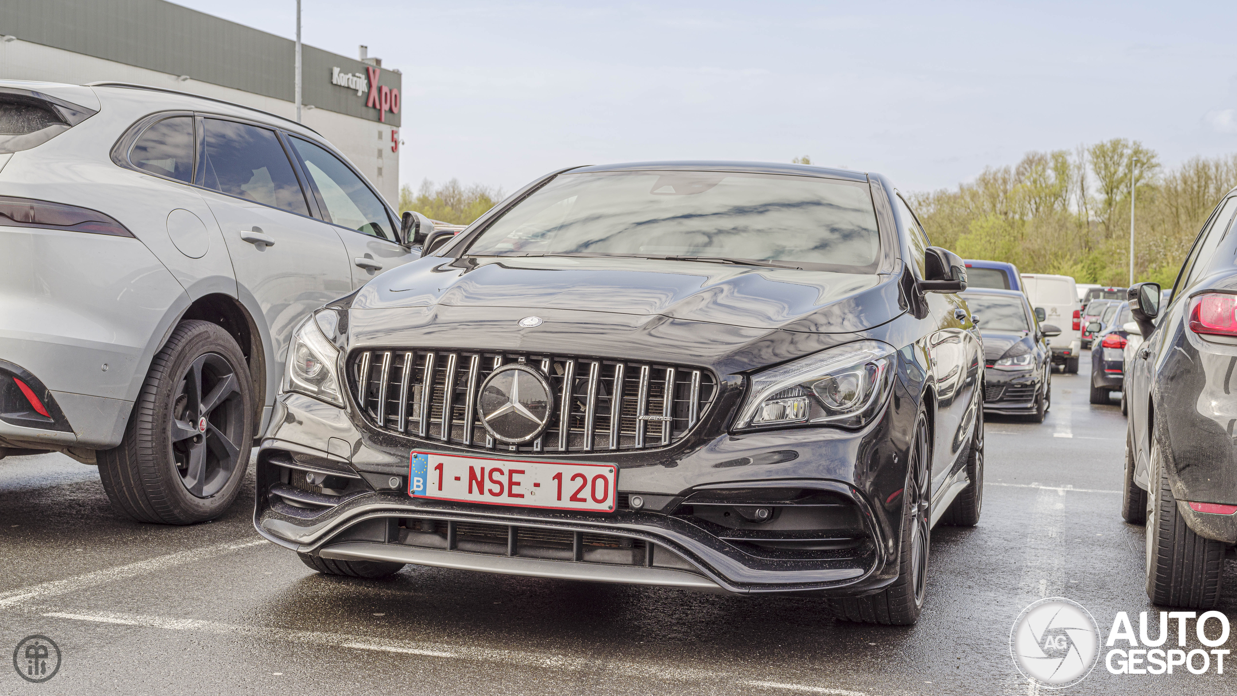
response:
<path id="1" fill-rule="evenodd" d="M 495 221 L 475 256 L 753 260 L 875 273 L 866 183 L 734 172 L 562 174 Z"/>

